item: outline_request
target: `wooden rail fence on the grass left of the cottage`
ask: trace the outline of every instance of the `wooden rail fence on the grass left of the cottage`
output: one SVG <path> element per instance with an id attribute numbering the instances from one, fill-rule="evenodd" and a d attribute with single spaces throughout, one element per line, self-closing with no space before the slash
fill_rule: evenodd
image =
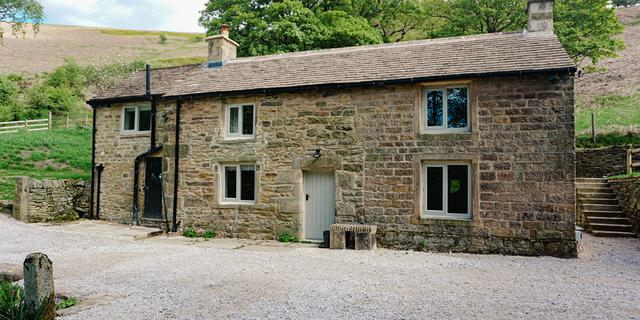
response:
<path id="1" fill-rule="evenodd" d="M 49 116 L 46 119 L 0 122 L 0 134 L 44 131 L 58 128 L 89 128 L 92 125 L 91 121 L 90 113 L 54 117 L 51 115 L 51 112 L 49 112 Z"/>

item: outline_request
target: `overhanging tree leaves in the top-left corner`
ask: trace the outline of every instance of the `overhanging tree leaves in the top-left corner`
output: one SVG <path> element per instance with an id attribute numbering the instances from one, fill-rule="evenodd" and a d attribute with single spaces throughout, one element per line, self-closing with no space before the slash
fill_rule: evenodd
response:
<path id="1" fill-rule="evenodd" d="M 15 37 L 24 37 L 27 23 L 31 23 L 37 33 L 43 20 L 44 8 L 38 0 L 0 0 L 0 21 L 9 24 Z M 0 25 L 0 44 L 3 38 L 4 29 Z"/>

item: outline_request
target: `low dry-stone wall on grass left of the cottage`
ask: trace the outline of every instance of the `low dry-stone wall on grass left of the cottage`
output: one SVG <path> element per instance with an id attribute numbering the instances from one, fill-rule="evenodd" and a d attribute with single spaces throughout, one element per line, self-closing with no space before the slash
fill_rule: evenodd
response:
<path id="1" fill-rule="evenodd" d="M 89 211 L 89 184 L 82 180 L 18 177 L 13 217 L 24 222 L 83 217 Z"/>

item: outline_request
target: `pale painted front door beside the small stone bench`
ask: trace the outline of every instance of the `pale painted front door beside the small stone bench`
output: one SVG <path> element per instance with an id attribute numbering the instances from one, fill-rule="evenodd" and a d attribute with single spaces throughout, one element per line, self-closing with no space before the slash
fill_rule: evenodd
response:
<path id="1" fill-rule="evenodd" d="M 335 216 L 335 182 L 333 172 L 304 173 L 304 237 L 323 240 Z"/>

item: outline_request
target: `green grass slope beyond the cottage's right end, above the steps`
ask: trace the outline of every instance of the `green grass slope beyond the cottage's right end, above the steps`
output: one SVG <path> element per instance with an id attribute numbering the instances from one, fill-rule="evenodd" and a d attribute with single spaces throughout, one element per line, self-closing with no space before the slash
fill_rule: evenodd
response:
<path id="1" fill-rule="evenodd" d="M 597 97 L 591 106 L 578 106 L 576 108 L 578 134 L 591 131 L 592 112 L 596 116 L 596 133 L 607 133 L 625 126 L 640 126 L 640 92 L 630 96 L 604 95 Z"/>

